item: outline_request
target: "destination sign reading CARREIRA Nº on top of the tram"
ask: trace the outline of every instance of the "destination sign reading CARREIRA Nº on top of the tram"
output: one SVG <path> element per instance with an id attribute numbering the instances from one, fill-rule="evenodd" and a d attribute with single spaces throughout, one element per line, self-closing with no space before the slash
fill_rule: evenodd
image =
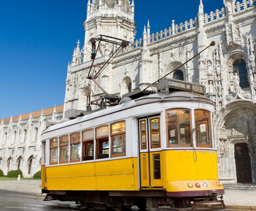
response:
<path id="1" fill-rule="evenodd" d="M 186 82 L 186 81 L 164 77 L 158 82 L 157 90 L 158 92 L 166 93 L 166 94 L 169 93 L 170 91 L 175 91 L 175 90 L 205 94 L 206 89 L 205 89 L 205 86 L 198 83 Z"/>

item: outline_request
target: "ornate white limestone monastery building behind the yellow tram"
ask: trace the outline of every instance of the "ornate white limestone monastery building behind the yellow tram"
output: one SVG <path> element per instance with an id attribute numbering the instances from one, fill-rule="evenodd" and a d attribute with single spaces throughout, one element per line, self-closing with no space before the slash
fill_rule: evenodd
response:
<path id="1" fill-rule="evenodd" d="M 219 179 L 255 183 L 256 0 L 224 0 L 223 8 L 210 14 L 204 13 L 201 0 L 197 17 L 184 23 L 173 20 L 168 29 L 160 32 L 153 31 L 148 21 L 142 39 L 136 41 L 135 3 L 134 0 L 88 1 L 83 23 L 85 42 L 83 46 L 77 42 L 72 62 L 68 64 L 64 106 L 3 119 L 0 169 L 6 174 L 20 168 L 25 176 L 32 176 L 40 169 L 40 133 L 46 127 L 46 119 L 61 119 L 63 110 L 86 111 L 93 95 L 102 95 L 94 83 L 92 93 L 86 77 L 92 62 L 90 40 L 106 35 L 133 43 L 116 55 L 97 78 L 108 93 L 119 96 L 153 83 L 215 41 L 214 47 L 168 77 L 205 85 L 207 96 L 214 102 Z M 94 64 L 102 66 L 116 48 L 100 43 Z"/>

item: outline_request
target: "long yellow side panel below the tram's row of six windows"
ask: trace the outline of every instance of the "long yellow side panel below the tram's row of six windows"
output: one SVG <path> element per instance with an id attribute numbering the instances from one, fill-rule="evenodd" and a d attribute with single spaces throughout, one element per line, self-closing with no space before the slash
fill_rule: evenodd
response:
<path id="1" fill-rule="evenodd" d="M 47 167 L 48 190 L 138 190 L 138 159 Z"/>

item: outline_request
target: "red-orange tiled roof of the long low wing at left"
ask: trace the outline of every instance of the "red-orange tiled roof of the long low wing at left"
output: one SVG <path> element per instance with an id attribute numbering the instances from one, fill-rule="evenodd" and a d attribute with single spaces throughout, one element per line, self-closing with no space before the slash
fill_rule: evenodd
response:
<path id="1" fill-rule="evenodd" d="M 56 106 L 56 113 L 63 112 L 63 107 L 64 107 L 64 105 Z M 54 110 L 54 107 L 43 109 L 43 115 L 44 116 L 51 115 L 53 113 L 53 110 Z M 41 113 L 42 113 L 42 110 L 32 112 L 32 118 L 39 117 L 41 115 Z M 21 120 L 26 120 L 29 118 L 29 116 L 30 116 L 30 113 L 21 114 Z M 18 122 L 19 118 L 20 118 L 20 115 L 14 116 L 14 117 L 12 117 L 12 121 Z M 9 123 L 10 119 L 11 119 L 11 117 L 5 118 L 3 123 L 4 124 Z M 0 122 L 2 122 L 2 120 L 0 120 Z"/>

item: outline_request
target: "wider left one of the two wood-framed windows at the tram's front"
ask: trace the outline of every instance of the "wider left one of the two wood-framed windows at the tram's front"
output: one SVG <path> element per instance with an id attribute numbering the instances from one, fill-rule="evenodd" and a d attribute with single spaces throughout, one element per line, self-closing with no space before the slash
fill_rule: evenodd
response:
<path id="1" fill-rule="evenodd" d="M 167 146 L 191 146 L 191 110 L 173 109 L 166 111 L 167 118 Z"/>

